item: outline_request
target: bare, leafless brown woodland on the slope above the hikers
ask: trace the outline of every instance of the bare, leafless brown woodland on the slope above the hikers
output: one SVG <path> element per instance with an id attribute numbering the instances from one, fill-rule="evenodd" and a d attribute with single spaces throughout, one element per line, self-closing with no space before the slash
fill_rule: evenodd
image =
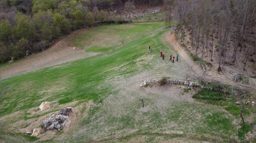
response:
<path id="1" fill-rule="evenodd" d="M 180 0 L 174 9 L 175 32 L 181 42 L 186 43 L 189 38 L 196 58 L 210 63 L 212 55 L 217 54 L 218 71 L 225 62 L 234 65 L 239 60 L 238 54 L 242 56 L 243 69 L 249 60 L 254 61 L 255 0 Z M 229 53 L 232 53 L 230 59 Z"/>

